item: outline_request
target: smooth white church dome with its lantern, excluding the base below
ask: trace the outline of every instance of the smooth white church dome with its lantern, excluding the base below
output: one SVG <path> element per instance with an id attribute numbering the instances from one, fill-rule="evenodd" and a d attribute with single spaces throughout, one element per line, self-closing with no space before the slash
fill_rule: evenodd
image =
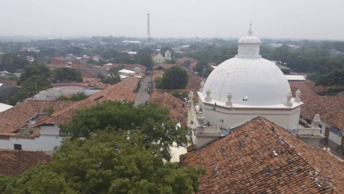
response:
<path id="1" fill-rule="evenodd" d="M 290 92 L 287 78 L 269 60 L 259 55 L 260 39 L 249 36 L 239 40 L 238 54 L 219 64 L 208 76 L 203 95 L 210 89 L 212 100 L 226 102 L 232 92 L 232 102 L 250 106 L 282 104 Z M 247 100 L 245 100 L 247 98 Z"/>

